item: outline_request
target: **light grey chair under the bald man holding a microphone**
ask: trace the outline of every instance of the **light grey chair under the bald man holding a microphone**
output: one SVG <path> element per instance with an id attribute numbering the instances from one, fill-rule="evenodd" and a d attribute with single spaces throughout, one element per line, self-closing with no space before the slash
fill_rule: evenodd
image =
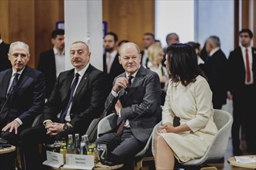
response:
<path id="1" fill-rule="evenodd" d="M 113 128 L 116 128 L 116 124 L 112 124 L 112 122 L 116 122 L 116 121 L 117 121 L 116 114 L 109 114 L 108 116 L 102 118 L 102 120 L 99 121 L 99 124 L 98 124 L 97 137 L 99 138 L 99 134 L 105 134 L 106 132 L 111 131 Z M 144 161 L 154 160 L 154 157 L 144 157 L 144 155 L 147 154 L 147 151 L 150 148 L 152 134 L 150 134 L 150 138 L 148 139 L 145 147 L 140 152 L 138 152 L 137 155 L 134 156 L 134 159 L 140 160 L 139 162 L 137 162 L 138 169 L 142 168 L 142 163 Z"/>

